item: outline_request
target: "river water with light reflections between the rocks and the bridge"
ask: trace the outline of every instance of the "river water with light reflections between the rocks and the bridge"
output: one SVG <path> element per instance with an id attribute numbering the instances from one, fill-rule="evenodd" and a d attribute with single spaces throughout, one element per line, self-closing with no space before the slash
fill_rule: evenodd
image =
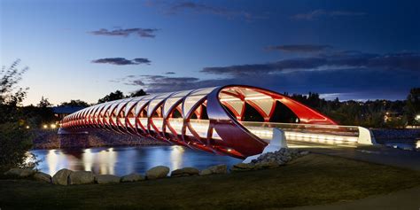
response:
<path id="1" fill-rule="evenodd" d="M 144 173 L 159 165 L 175 170 L 181 167 L 203 169 L 217 164 L 233 165 L 241 159 L 193 151 L 182 146 L 99 147 L 32 151 L 41 159 L 38 168 L 54 175 L 61 168 L 93 171 L 95 174 L 127 175 Z"/>

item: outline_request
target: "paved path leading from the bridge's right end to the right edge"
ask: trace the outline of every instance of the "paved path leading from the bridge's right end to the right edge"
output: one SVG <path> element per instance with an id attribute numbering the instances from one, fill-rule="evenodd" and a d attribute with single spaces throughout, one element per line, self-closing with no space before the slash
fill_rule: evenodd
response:
<path id="1" fill-rule="evenodd" d="M 319 144 L 309 145 L 309 143 L 298 142 L 293 142 L 291 144 L 295 146 L 304 146 L 306 147 L 305 150 L 314 153 L 357 159 L 393 167 L 405 167 L 420 171 L 420 152 L 404 151 L 392 147 L 385 147 L 383 145 L 344 147 L 323 146 Z"/>

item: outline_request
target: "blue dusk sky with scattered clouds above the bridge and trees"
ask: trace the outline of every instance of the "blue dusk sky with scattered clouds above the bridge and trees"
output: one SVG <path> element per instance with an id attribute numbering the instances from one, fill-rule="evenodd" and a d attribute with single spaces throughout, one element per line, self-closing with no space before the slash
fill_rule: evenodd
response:
<path id="1" fill-rule="evenodd" d="M 340 100 L 420 86 L 420 1 L 0 0 L 25 105 L 248 84 Z"/>

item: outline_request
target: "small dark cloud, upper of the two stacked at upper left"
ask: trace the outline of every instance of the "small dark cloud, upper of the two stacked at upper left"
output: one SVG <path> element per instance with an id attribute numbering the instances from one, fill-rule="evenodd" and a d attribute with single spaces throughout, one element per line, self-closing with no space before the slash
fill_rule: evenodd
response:
<path id="1" fill-rule="evenodd" d="M 114 29 L 108 30 L 105 28 L 101 28 L 97 31 L 91 31 L 90 34 L 92 35 L 115 35 L 115 36 L 125 36 L 128 35 L 138 35 L 140 37 L 148 37 L 154 38 L 156 35 L 155 32 L 158 31 L 156 28 L 141 28 L 141 27 L 134 27 L 134 28 L 127 28 L 127 29 Z"/>

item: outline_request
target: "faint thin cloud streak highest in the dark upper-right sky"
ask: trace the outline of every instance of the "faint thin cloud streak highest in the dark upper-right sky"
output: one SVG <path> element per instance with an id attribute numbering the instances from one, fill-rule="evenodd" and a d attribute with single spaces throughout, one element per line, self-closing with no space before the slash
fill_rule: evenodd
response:
<path id="1" fill-rule="evenodd" d="M 365 12 L 315 10 L 312 12 L 299 13 L 299 14 L 292 15 L 291 19 L 314 20 L 314 19 L 320 19 L 320 18 L 361 17 L 365 15 L 366 15 Z"/>

